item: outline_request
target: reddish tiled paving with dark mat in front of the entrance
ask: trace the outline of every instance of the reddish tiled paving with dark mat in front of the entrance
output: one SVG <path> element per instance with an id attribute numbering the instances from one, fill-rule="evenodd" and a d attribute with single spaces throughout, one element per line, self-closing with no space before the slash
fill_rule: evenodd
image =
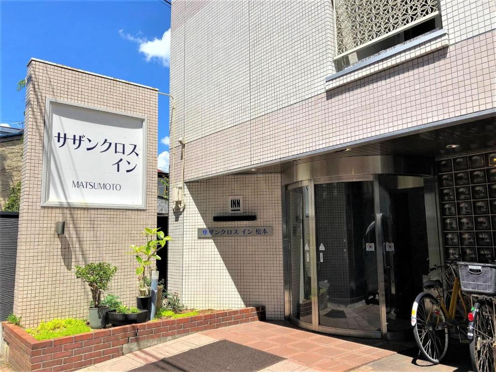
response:
<path id="1" fill-rule="evenodd" d="M 214 348 L 215 343 L 219 340 L 227 340 L 237 344 L 241 348 L 241 352 L 245 354 L 226 356 L 227 352 L 218 351 L 217 355 L 208 354 L 208 350 Z M 223 342 L 227 343 L 226 341 Z M 326 336 L 296 328 L 287 322 L 252 322 L 191 334 L 126 354 L 81 371 L 127 372 L 137 369 L 136 372 L 208 372 L 205 370 L 204 358 L 210 358 L 212 361 L 212 371 L 228 370 L 228 367 L 222 366 L 226 366 L 225 363 L 229 363 L 230 358 L 232 362 L 235 359 L 238 363 L 236 366 L 238 366 L 239 372 L 410 371 L 411 366 L 418 369 L 422 369 L 422 367 L 412 365 L 413 359 L 408 353 L 401 355 L 397 352 L 410 350 L 411 354 L 413 346 L 412 342 L 395 343 L 363 339 L 358 341 L 357 339 Z M 198 348 L 205 350 L 205 353 L 197 352 L 196 356 L 193 356 L 192 352 Z M 268 354 L 253 351 L 253 349 Z M 219 349 L 217 348 L 217 350 Z M 258 353 L 257 357 L 251 358 L 251 360 L 256 359 L 260 365 L 260 363 L 263 364 L 262 359 L 266 355 L 269 357 L 267 363 L 270 365 L 265 365 L 261 369 L 254 368 L 250 362 L 250 350 Z M 194 358 L 196 358 L 196 363 Z M 274 360 L 276 362 L 272 364 Z M 182 363 L 184 364 L 182 365 Z M 246 364 L 243 365 L 244 367 L 239 367 L 241 366 L 240 363 L 241 365 Z M 426 365 L 424 363 L 424 366 Z M 230 370 L 238 372 L 233 367 Z M 427 370 L 429 372 L 467 371 L 449 366 L 446 368 L 433 366 L 427 369 L 424 367 L 424 371 Z"/>

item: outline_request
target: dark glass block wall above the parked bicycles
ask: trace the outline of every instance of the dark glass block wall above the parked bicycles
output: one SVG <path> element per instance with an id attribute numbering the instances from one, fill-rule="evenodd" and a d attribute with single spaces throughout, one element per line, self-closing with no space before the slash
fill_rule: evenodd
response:
<path id="1" fill-rule="evenodd" d="M 446 259 L 496 256 L 496 150 L 437 161 Z"/>

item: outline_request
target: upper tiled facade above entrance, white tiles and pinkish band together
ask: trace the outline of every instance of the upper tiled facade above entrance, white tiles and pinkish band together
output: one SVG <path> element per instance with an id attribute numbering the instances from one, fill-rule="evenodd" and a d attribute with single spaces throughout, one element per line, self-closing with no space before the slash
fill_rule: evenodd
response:
<path id="1" fill-rule="evenodd" d="M 448 48 L 327 92 L 331 1 L 235 3 L 174 1 L 171 90 L 182 93 L 186 179 L 495 107 L 495 0 L 440 2 Z M 212 31 L 219 19 L 224 31 Z"/>

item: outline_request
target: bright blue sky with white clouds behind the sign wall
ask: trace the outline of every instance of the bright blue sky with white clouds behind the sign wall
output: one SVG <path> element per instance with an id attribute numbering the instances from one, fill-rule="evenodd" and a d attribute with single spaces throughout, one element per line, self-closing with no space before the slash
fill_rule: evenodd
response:
<path id="1" fill-rule="evenodd" d="M 0 0 L 0 125 L 22 122 L 31 57 L 169 92 L 170 6 L 148 1 Z M 169 101 L 159 95 L 159 166 L 169 164 Z"/>

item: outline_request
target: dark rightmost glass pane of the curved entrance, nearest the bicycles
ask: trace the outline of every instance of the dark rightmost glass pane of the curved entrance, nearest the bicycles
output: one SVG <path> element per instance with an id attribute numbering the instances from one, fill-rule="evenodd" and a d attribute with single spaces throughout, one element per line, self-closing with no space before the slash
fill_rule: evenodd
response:
<path id="1" fill-rule="evenodd" d="M 375 183 L 385 326 L 387 332 L 409 332 L 412 304 L 429 273 L 424 179 L 376 175 Z"/>

